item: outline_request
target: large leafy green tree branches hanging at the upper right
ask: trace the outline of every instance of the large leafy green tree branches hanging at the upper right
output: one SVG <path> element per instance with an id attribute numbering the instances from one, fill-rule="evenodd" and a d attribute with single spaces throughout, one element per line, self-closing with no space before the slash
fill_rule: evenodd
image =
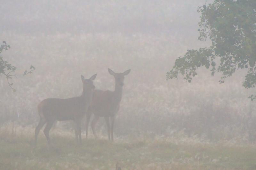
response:
<path id="1" fill-rule="evenodd" d="M 191 82 L 197 75 L 196 69 L 205 66 L 212 75 L 221 72 L 220 83 L 239 69 L 246 69 L 243 86 L 256 86 L 256 1 L 215 0 L 212 4 L 200 6 L 200 36 L 198 40 L 212 41 L 210 47 L 188 50 L 176 59 L 167 72 L 167 79 L 178 78 L 181 74 Z M 253 100 L 256 96 L 250 96 Z"/>

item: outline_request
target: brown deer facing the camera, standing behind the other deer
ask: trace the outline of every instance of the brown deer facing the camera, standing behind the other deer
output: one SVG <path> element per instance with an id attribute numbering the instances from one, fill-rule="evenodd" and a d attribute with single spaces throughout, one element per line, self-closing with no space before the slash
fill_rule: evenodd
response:
<path id="1" fill-rule="evenodd" d="M 91 127 L 92 133 L 97 137 L 95 133 L 95 125 L 99 120 L 99 117 L 104 117 L 107 128 L 108 128 L 108 140 L 114 141 L 114 123 L 115 116 L 119 110 L 119 104 L 122 99 L 124 76 L 130 73 L 131 70 L 126 70 L 123 73 L 115 73 L 114 71 L 108 69 L 109 74 L 115 78 L 115 90 L 114 91 L 102 91 L 94 90 L 92 97 L 92 104 L 88 108 L 86 115 L 86 138 L 88 136 L 88 126 L 90 122 L 91 115 L 94 114 Z M 110 118 L 110 122 L 109 122 Z"/>

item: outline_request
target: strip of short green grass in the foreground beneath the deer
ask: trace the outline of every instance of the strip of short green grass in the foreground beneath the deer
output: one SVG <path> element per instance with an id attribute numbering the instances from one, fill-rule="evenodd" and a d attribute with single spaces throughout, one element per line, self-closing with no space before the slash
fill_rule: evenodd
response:
<path id="1" fill-rule="evenodd" d="M 53 129 L 52 147 L 43 132 L 32 145 L 34 128 L 5 125 L 0 129 L 0 169 L 256 169 L 254 145 L 216 144 L 194 139 L 127 140 L 112 143 L 106 137 L 75 144 L 71 131 Z M 83 136 L 84 137 L 84 136 Z M 91 135 L 92 137 L 92 135 Z"/>

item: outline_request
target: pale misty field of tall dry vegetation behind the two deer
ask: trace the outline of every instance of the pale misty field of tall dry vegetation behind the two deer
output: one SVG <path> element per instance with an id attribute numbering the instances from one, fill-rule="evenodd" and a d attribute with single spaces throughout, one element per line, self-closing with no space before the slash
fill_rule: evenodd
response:
<path id="1" fill-rule="evenodd" d="M 208 2 L 211 3 L 211 2 Z M 208 47 L 197 41 L 197 7 L 205 0 L 5 1 L 0 6 L 0 37 L 11 46 L 2 55 L 17 73 L 33 65 L 25 77 L 12 78 L 12 92 L 0 79 L 0 123 L 36 127 L 37 104 L 45 98 L 82 93 L 80 75 L 97 89 L 114 90 L 115 72 L 125 77 L 117 114 L 116 137 L 196 136 L 205 140 L 254 142 L 255 104 L 242 87 L 244 72 L 224 84 L 220 74 L 200 68 L 192 83 L 166 81 L 166 72 L 187 49 Z M 72 122 L 57 127 L 73 130 Z M 84 128 L 84 125 L 83 125 Z M 89 137 L 93 137 L 89 129 Z M 100 119 L 97 133 L 107 137 Z"/>

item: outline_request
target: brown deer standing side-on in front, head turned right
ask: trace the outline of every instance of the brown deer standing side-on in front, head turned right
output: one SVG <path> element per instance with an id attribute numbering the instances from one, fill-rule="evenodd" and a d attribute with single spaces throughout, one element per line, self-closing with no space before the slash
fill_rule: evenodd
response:
<path id="1" fill-rule="evenodd" d="M 35 145 L 37 142 L 37 136 L 40 129 L 46 123 L 44 128 L 44 135 L 47 139 L 48 144 L 51 144 L 49 131 L 55 121 L 67 121 L 73 120 L 75 122 L 75 134 L 76 142 L 82 143 L 81 138 L 81 119 L 86 114 L 89 105 L 92 102 L 92 95 L 95 86 L 93 85 L 93 80 L 96 78 L 97 74 L 94 74 L 89 79 L 84 79 L 81 75 L 83 82 L 83 93 L 81 96 L 72 97 L 68 99 L 57 99 L 48 98 L 44 99 L 38 104 L 38 114 L 40 116 L 40 122 L 36 127 L 35 131 Z"/>

